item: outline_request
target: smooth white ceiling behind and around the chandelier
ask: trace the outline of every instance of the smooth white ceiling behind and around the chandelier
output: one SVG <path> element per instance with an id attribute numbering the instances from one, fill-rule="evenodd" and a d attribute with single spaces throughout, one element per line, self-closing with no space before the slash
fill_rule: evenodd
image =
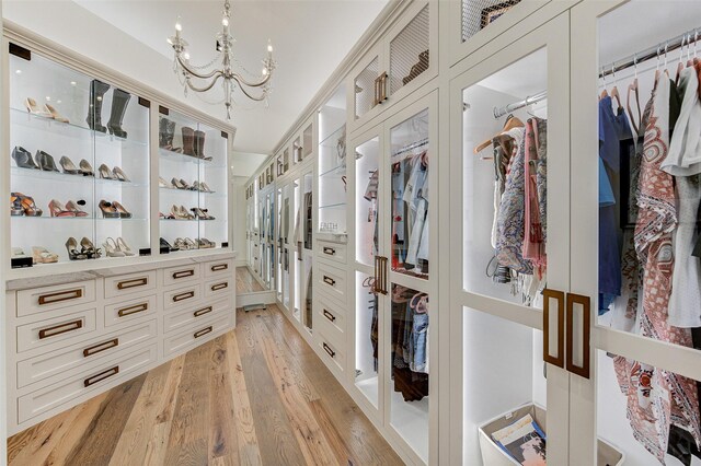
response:
<path id="1" fill-rule="evenodd" d="M 166 37 L 173 35 L 175 20 L 181 15 L 191 62 L 204 65 L 215 57 L 223 1 L 74 1 L 169 60 L 173 54 Z M 232 1 L 231 31 L 242 66 L 260 75 L 268 37 L 278 66 L 267 108 L 244 98 L 239 101 L 232 119 L 238 128 L 235 148 L 272 152 L 386 3 L 387 0 Z M 176 77 L 171 73 L 162 79 Z M 207 102 L 221 101 L 222 94 L 216 90 L 207 95 Z M 191 101 L 202 98 L 189 94 Z M 217 117 L 225 116 L 222 104 L 206 108 Z"/>

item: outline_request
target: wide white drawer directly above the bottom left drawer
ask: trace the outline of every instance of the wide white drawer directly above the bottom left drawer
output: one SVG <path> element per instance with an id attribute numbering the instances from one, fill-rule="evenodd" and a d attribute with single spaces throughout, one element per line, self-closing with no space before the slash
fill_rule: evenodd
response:
<path id="1" fill-rule="evenodd" d="M 82 345 L 51 351 L 18 363 L 18 388 L 22 388 L 35 382 L 48 377 L 64 380 L 74 375 L 76 370 L 83 370 L 101 364 L 104 358 L 123 350 L 134 348 L 145 341 L 156 341 L 158 326 L 156 319 L 148 323 L 126 328 L 87 341 Z"/>

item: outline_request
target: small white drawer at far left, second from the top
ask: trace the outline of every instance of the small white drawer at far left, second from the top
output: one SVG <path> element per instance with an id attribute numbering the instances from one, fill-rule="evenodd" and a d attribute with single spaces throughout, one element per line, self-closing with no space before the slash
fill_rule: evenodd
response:
<path id="1" fill-rule="evenodd" d="M 42 347 L 50 347 L 49 350 L 55 350 L 72 345 L 77 339 L 80 341 L 89 338 L 95 331 L 96 312 L 97 310 L 93 307 L 18 326 L 18 352 Z"/>

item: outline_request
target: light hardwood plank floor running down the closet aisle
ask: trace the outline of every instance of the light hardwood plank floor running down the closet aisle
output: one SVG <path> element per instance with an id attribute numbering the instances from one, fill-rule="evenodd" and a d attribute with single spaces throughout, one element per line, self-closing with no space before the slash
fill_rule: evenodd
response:
<path id="1" fill-rule="evenodd" d="M 394 465 L 275 305 L 8 440 L 15 465 Z"/>

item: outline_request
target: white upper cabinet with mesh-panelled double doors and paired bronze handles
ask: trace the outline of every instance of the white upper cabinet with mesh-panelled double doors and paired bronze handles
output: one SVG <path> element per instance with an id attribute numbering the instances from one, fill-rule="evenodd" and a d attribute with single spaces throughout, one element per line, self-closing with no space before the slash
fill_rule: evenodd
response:
<path id="1" fill-rule="evenodd" d="M 350 132 L 438 74 L 438 2 L 414 1 L 356 65 L 346 85 Z"/>

